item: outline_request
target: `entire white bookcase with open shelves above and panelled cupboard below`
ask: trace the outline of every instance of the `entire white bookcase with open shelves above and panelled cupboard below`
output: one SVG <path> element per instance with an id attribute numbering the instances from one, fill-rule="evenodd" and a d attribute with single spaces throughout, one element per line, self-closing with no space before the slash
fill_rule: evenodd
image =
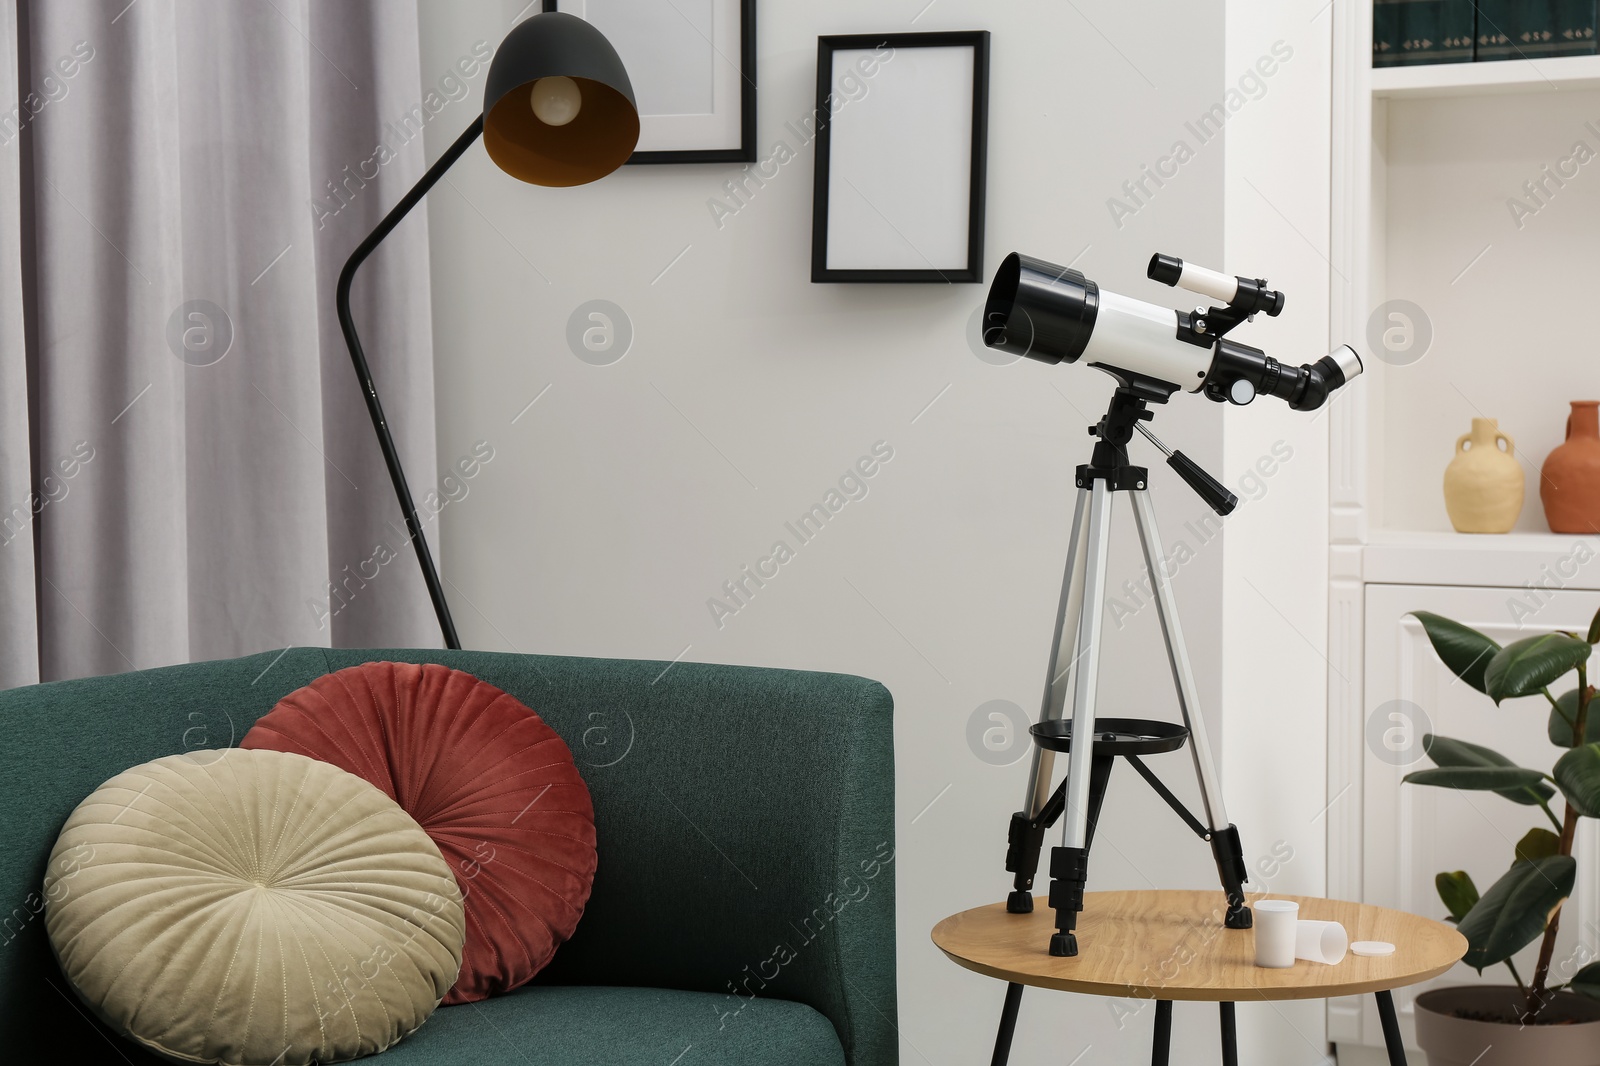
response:
<path id="1" fill-rule="evenodd" d="M 1563 560 L 1571 571 L 1579 549 L 1597 557 L 1539 602 L 1582 600 L 1589 611 L 1597 602 L 1600 536 L 1550 533 L 1538 485 L 1562 440 L 1565 402 L 1600 399 L 1590 325 L 1600 303 L 1600 158 L 1522 226 L 1509 202 L 1574 142 L 1600 152 L 1600 56 L 1371 69 L 1371 3 L 1334 5 L 1333 14 L 1330 344 L 1370 352 L 1374 309 L 1408 299 L 1432 322 L 1434 346 L 1411 365 L 1370 359 L 1365 379 L 1330 410 L 1328 895 L 1387 906 L 1414 896 L 1426 912 L 1429 885 L 1410 885 L 1411 872 L 1371 847 L 1398 797 L 1333 800 L 1352 786 L 1370 791 L 1368 714 L 1411 683 L 1402 671 L 1387 685 L 1382 667 L 1410 647 L 1403 611 L 1450 603 L 1464 619 L 1520 632 L 1510 603 Z M 1525 459 L 1528 488 L 1510 535 L 1454 533 L 1445 515 L 1443 471 L 1475 415 L 1499 418 Z M 1387 898 L 1382 885 L 1402 882 L 1405 893 Z M 1397 996 L 1408 1036 L 1410 1000 Z M 1381 1045 L 1373 1010 L 1357 1000 L 1330 1004 L 1328 1036 L 1352 1048 Z"/>

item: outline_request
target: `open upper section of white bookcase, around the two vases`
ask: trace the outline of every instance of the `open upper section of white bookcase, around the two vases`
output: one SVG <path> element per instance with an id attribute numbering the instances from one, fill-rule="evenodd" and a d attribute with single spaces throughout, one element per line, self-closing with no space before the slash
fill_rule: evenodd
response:
<path id="1" fill-rule="evenodd" d="M 1373 69 L 1371 5 L 1334 13 L 1330 341 L 1371 352 L 1371 317 L 1395 299 L 1422 307 L 1434 341 L 1413 365 L 1368 359 L 1334 403 L 1330 539 L 1502 552 L 1526 579 L 1563 543 L 1538 483 L 1566 400 L 1600 399 L 1600 158 L 1571 162 L 1578 142 L 1600 154 L 1600 56 Z M 1528 182 L 1546 182 L 1544 197 Z M 1514 536 L 1456 535 L 1445 515 L 1443 469 L 1474 416 L 1517 440 L 1526 496 Z"/>

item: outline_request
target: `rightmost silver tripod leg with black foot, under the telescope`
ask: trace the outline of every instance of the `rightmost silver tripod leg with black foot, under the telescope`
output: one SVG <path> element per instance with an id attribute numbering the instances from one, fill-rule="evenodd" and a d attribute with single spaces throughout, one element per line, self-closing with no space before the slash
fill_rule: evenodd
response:
<path id="1" fill-rule="evenodd" d="M 1227 893 L 1224 925 L 1250 928 L 1251 916 L 1245 904 L 1245 882 L 1250 879 L 1250 871 L 1245 868 L 1238 829 L 1229 824 L 1227 810 L 1222 807 L 1222 787 L 1216 779 L 1216 762 L 1211 759 L 1211 743 L 1206 739 L 1205 719 L 1200 714 L 1200 687 L 1195 685 L 1189 650 L 1184 647 L 1182 626 L 1178 621 L 1178 599 L 1168 581 L 1166 555 L 1162 552 L 1162 533 L 1155 525 L 1155 506 L 1150 503 L 1149 490 L 1133 491 L 1133 517 L 1139 525 L 1144 562 L 1150 568 L 1155 610 L 1162 619 L 1162 635 L 1166 639 L 1166 661 L 1173 667 L 1173 683 L 1178 687 L 1178 709 L 1182 711 L 1184 725 L 1189 727 L 1189 752 L 1195 760 L 1200 799 L 1205 804 L 1205 821 L 1211 829 L 1211 855 L 1216 858 L 1222 892 Z"/>

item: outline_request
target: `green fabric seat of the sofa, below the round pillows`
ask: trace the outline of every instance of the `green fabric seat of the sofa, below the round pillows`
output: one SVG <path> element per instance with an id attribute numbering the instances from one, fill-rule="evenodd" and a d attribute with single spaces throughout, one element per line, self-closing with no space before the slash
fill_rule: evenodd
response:
<path id="1" fill-rule="evenodd" d="M 803 1004 L 757 999 L 726 1024 L 718 1021 L 722 1007 L 722 996 L 707 992 L 534 984 L 480 1004 L 442 1007 L 382 1060 L 384 1066 L 845 1063 L 834 1026 Z"/>

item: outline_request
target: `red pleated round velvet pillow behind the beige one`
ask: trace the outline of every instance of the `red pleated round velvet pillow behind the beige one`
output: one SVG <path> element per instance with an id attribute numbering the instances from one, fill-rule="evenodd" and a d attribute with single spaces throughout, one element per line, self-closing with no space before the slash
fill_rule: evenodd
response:
<path id="1" fill-rule="evenodd" d="M 283 696 L 240 746 L 365 778 L 434 839 L 467 912 L 445 1004 L 525 984 L 578 927 L 595 876 L 589 789 L 555 730 L 494 685 L 437 663 L 365 663 Z"/>

